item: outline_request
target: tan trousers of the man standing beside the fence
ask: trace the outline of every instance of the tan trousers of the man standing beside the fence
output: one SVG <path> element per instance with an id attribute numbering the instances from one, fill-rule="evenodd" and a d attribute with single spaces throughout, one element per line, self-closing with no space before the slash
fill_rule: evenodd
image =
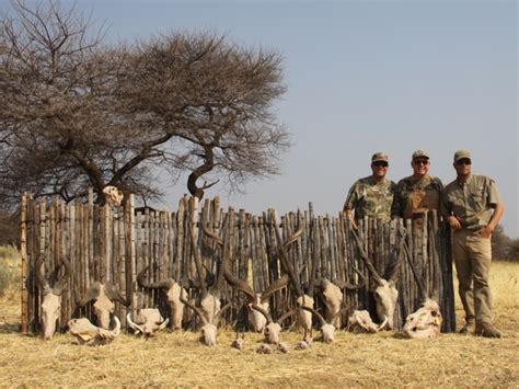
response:
<path id="1" fill-rule="evenodd" d="M 478 231 L 457 230 L 453 255 L 465 320 L 475 319 L 476 324 L 492 323 L 492 295 L 488 285 L 491 239 L 481 237 Z"/>

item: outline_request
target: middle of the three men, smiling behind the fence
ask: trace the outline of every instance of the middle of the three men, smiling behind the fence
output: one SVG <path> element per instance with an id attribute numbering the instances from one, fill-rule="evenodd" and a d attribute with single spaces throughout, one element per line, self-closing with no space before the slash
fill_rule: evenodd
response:
<path id="1" fill-rule="evenodd" d="M 396 184 L 392 216 L 413 219 L 420 225 L 424 214 L 429 209 L 440 209 L 443 184 L 440 179 L 429 174 L 430 159 L 425 150 L 416 150 L 411 158 L 413 175 Z M 439 216 L 439 215 L 438 215 Z"/>

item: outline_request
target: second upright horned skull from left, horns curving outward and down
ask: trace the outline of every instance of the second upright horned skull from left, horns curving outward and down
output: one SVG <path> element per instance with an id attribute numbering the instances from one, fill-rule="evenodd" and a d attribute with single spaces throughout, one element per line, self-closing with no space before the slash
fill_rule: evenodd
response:
<path id="1" fill-rule="evenodd" d="M 97 325 L 105 330 L 109 327 L 111 313 L 114 313 L 115 305 L 113 301 L 119 301 L 125 307 L 128 307 L 131 302 L 129 299 L 126 300 L 117 287 L 111 283 L 102 284 L 100 282 L 95 282 L 86 289 L 81 300 L 78 301 L 78 306 L 84 307 L 92 300 L 95 300 L 93 308 Z"/>

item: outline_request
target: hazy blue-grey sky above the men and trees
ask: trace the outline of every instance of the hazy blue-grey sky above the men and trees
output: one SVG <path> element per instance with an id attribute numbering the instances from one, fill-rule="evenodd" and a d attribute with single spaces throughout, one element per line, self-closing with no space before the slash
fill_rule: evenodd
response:
<path id="1" fill-rule="evenodd" d="M 413 151 L 425 149 L 430 173 L 447 184 L 455 178 L 454 151 L 468 149 L 473 173 L 497 183 L 505 233 L 519 236 L 516 1 L 79 0 L 77 7 L 105 22 L 113 43 L 211 31 L 282 54 L 288 91 L 275 108 L 293 146 L 281 174 L 251 182 L 245 194 L 221 184 L 206 192 L 223 207 L 284 214 L 311 202 L 316 215 L 335 216 L 350 185 L 371 173 L 373 152 L 389 155 L 388 176 L 399 181 L 412 173 Z M 185 179 L 166 192 L 159 207 L 175 210 Z"/>

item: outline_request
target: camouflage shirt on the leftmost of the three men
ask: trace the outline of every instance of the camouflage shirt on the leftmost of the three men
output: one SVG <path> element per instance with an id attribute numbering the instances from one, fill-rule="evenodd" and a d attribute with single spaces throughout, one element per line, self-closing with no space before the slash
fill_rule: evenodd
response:
<path id="1" fill-rule="evenodd" d="M 371 216 L 389 221 L 395 187 L 393 181 L 384 180 L 377 183 L 371 175 L 357 180 L 349 190 L 343 209 L 355 209 L 356 220 Z"/>

